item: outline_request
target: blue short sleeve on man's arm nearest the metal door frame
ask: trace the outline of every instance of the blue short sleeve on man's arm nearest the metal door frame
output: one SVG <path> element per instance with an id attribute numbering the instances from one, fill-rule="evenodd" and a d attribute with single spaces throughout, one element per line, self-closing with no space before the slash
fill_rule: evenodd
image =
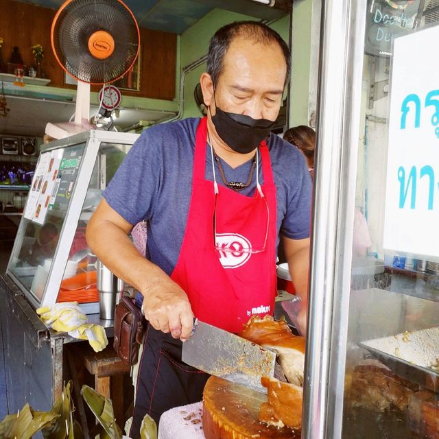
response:
<path id="1" fill-rule="evenodd" d="M 287 191 L 287 207 L 281 233 L 290 239 L 309 238 L 311 230 L 312 181 L 304 160 Z"/>

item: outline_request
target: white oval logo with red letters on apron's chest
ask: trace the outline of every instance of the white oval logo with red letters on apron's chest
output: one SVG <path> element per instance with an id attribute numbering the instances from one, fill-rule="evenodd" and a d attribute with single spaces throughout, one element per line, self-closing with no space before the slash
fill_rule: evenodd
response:
<path id="1" fill-rule="evenodd" d="M 238 268 L 250 259 L 252 244 L 238 233 L 217 233 L 215 244 L 219 262 L 224 268 Z"/>

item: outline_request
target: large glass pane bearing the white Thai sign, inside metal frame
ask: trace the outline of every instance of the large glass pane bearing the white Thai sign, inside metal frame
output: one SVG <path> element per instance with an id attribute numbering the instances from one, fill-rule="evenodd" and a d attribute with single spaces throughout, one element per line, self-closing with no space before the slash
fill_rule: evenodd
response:
<path id="1" fill-rule="evenodd" d="M 413 56 L 426 47 L 432 50 L 437 37 L 426 37 L 415 51 L 408 39 L 427 36 L 426 26 L 439 30 L 438 6 L 437 0 L 368 1 L 344 388 L 346 439 L 439 438 L 439 248 L 436 254 L 420 250 L 428 246 L 417 238 L 423 231 L 431 240 L 437 234 L 427 222 L 434 215 L 433 195 L 429 199 L 420 190 L 428 193 L 436 170 L 437 160 L 431 160 L 427 148 L 438 142 L 434 126 L 439 120 L 432 118 L 435 104 L 424 109 L 425 93 L 418 89 L 428 82 L 420 71 L 425 70 L 425 78 L 437 78 L 431 62 L 438 64 L 433 52 L 421 60 Z M 404 62 L 407 67 L 401 70 Z M 412 79 L 404 80 L 401 71 Z M 434 88 L 439 88 L 437 80 Z M 399 98 L 415 91 L 422 99 L 420 117 L 416 102 L 407 101 L 404 110 Z M 427 129 L 431 139 L 424 141 Z M 404 143 L 410 136 L 407 154 Z M 412 197 L 417 197 L 416 206 Z"/>

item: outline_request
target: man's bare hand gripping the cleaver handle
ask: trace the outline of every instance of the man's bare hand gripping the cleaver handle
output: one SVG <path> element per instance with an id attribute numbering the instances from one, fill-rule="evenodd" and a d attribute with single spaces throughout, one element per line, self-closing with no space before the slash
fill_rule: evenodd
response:
<path id="1" fill-rule="evenodd" d="M 154 282 L 143 292 L 143 313 L 154 329 L 185 342 L 191 335 L 193 313 L 186 293 L 170 278 Z"/>

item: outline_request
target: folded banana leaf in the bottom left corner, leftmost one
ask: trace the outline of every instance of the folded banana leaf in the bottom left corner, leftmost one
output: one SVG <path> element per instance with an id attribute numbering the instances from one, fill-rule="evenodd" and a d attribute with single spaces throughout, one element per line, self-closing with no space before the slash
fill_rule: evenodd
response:
<path id="1" fill-rule="evenodd" d="M 29 439 L 37 431 L 49 425 L 56 417 L 60 416 L 53 412 L 36 412 L 26 404 L 19 413 L 8 418 L 8 427 L 5 429 L 4 438 Z M 5 418 L 6 420 L 6 418 Z"/>

